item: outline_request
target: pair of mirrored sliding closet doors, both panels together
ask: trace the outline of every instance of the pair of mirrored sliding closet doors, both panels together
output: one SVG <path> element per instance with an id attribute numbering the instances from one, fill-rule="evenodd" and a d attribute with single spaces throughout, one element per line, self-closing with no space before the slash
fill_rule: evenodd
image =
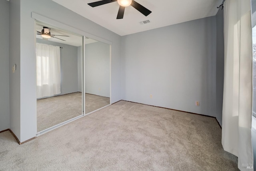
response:
<path id="1" fill-rule="evenodd" d="M 110 48 L 36 21 L 38 135 L 110 105 Z"/>

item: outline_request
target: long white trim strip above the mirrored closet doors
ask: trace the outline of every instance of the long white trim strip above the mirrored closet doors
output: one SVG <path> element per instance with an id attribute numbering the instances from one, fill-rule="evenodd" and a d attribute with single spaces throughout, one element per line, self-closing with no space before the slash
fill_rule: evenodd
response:
<path id="1" fill-rule="evenodd" d="M 50 18 L 41 16 L 40 14 L 36 14 L 34 12 L 31 13 L 31 17 L 36 19 L 36 20 L 39 20 L 41 22 L 46 22 L 47 24 L 50 24 L 50 25 L 55 26 L 57 28 L 62 28 L 64 30 L 66 30 L 66 31 L 73 32 L 74 34 L 84 35 L 87 38 L 91 38 L 91 39 L 94 39 L 94 40 L 97 40 L 97 41 L 100 41 L 100 42 L 103 42 L 103 43 L 106 43 L 106 44 L 110 44 L 110 45 L 113 44 L 112 42 L 110 42 L 110 41 L 108 41 L 106 39 L 100 38 L 98 36 L 94 36 L 93 34 L 84 32 L 84 31 L 79 30 L 77 28 L 68 26 L 67 24 L 63 24 L 61 22 L 52 20 Z"/>

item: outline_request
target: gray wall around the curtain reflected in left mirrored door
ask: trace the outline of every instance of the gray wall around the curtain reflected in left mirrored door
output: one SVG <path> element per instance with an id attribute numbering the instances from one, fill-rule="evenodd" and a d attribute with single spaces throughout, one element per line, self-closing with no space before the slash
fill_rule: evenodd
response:
<path id="1" fill-rule="evenodd" d="M 60 46 L 60 94 L 78 91 L 78 47 L 43 39 L 36 39 L 37 43 Z"/>

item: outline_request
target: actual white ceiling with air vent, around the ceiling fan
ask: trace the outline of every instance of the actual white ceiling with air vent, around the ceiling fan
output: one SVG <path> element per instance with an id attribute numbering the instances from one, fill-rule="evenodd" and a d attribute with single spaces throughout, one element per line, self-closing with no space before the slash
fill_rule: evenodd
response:
<path id="1" fill-rule="evenodd" d="M 125 8 L 124 18 L 116 19 L 119 5 L 111 2 L 92 8 L 90 2 L 98 0 L 53 0 L 54 2 L 92 20 L 120 36 L 178 24 L 199 18 L 215 16 L 223 0 L 136 0 L 152 11 L 144 16 L 132 6 Z M 150 20 L 141 25 L 140 22 Z"/>

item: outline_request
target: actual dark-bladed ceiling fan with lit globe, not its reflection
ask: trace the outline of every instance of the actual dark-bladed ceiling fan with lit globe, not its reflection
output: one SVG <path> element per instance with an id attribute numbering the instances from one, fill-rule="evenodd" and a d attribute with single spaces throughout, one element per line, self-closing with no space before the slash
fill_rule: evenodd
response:
<path id="1" fill-rule="evenodd" d="M 139 12 L 141 12 L 144 16 L 148 16 L 152 12 L 134 0 L 101 0 L 101 1 L 89 3 L 88 5 L 90 5 L 91 7 L 96 7 L 96 6 L 100 6 L 100 5 L 104 5 L 104 4 L 108 4 L 110 2 L 116 2 L 116 1 L 120 5 L 116 19 L 122 19 L 124 17 L 125 7 L 130 5 L 133 6 Z"/>

